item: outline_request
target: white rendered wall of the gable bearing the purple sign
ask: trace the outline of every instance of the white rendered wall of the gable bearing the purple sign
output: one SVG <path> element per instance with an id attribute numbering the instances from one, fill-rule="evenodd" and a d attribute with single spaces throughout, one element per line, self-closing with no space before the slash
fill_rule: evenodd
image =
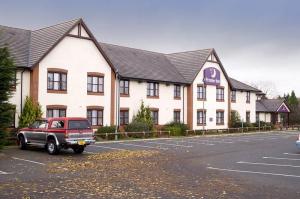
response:
<path id="1" fill-rule="evenodd" d="M 228 82 L 219 64 L 206 62 L 193 82 L 193 129 L 203 128 L 203 126 L 197 125 L 197 109 L 203 109 L 203 102 L 197 100 L 197 84 L 203 84 L 203 70 L 209 67 L 217 68 L 220 71 L 220 86 L 224 87 L 224 102 L 216 101 L 216 86 L 206 86 L 206 101 L 204 101 L 204 109 L 206 109 L 206 126 L 204 128 L 223 129 L 228 127 Z M 224 110 L 224 125 L 216 125 L 217 109 Z M 210 118 L 212 118 L 212 121 L 210 121 Z"/>

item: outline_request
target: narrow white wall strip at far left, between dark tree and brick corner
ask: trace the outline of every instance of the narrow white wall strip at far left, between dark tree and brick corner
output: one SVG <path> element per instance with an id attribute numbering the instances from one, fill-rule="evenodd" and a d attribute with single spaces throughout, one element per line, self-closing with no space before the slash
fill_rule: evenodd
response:
<path id="1" fill-rule="evenodd" d="M 9 99 L 9 102 L 16 105 L 16 114 L 15 114 L 15 126 L 18 127 L 19 116 L 21 114 L 21 70 L 17 71 L 17 86 L 16 90 L 13 92 L 12 97 Z M 26 96 L 30 95 L 30 71 L 26 70 L 23 72 L 23 98 L 22 105 L 24 107 Z"/>

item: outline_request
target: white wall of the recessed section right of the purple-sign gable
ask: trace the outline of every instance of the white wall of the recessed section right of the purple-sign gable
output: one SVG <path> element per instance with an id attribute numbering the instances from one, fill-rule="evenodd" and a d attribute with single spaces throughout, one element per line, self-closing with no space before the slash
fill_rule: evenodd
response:
<path id="1" fill-rule="evenodd" d="M 256 122 L 256 94 L 250 92 L 250 103 L 246 103 L 247 92 L 236 91 L 236 102 L 231 102 L 231 110 L 237 111 L 241 120 L 246 122 L 246 112 L 250 111 L 250 123 Z"/>

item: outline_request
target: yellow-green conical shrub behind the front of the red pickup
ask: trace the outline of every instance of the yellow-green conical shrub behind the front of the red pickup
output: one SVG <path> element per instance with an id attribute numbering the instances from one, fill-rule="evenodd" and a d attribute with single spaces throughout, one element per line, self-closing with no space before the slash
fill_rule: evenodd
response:
<path id="1" fill-rule="evenodd" d="M 26 127 L 43 115 L 39 103 L 35 103 L 31 97 L 26 97 L 24 108 L 20 116 L 19 127 Z"/>

